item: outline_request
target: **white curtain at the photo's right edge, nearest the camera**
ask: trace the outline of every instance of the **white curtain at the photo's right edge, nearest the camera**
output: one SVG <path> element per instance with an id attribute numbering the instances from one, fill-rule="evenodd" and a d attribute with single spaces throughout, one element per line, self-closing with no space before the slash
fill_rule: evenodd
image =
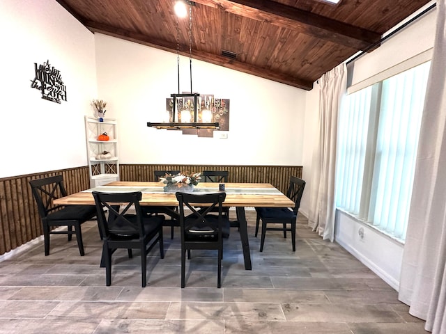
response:
<path id="1" fill-rule="evenodd" d="M 399 299 L 426 330 L 446 333 L 446 8 L 437 30 L 424 103 Z"/>

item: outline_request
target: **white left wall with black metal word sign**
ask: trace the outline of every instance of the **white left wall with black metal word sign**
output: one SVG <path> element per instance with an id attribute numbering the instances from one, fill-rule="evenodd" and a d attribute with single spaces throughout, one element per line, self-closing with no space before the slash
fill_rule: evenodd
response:
<path id="1" fill-rule="evenodd" d="M 54 0 L 1 0 L 0 40 L 0 177 L 85 166 L 93 34 Z M 34 63 L 45 61 L 61 71 L 67 102 L 43 100 L 31 88 Z"/>

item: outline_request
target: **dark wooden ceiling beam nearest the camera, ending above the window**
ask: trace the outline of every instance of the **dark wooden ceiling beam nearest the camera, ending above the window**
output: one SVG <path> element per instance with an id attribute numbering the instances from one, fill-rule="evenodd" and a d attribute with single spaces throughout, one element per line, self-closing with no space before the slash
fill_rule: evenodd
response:
<path id="1" fill-rule="evenodd" d="M 329 19 L 305 10 L 265 0 L 194 0 L 204 6 L 301 31 L 353 49 L 364 50 L 381 38 L 379 33 Z"/>

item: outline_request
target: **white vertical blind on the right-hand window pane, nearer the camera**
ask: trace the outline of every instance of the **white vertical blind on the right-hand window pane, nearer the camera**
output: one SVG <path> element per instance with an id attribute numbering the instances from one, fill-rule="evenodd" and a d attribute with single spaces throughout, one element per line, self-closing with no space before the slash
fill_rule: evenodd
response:
<path id="1" fill-rule="evenodd" d="M 406 236 L 429 63 L 383 81 L 369 221 Z"/>

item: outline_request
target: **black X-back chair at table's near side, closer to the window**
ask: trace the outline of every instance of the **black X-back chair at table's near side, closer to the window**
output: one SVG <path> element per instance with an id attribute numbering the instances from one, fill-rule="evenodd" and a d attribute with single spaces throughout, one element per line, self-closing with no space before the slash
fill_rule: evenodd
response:
<path id="1" fill-rule="evenodd" d="M 181 231 L 181 287 L 185 287 L 186 252 L 190 259 L 192 249 L 215 249 L 218 251 L 217 287 L 222 286 L 222 258 L 224 226 L 229 228 L 229 221 L 224 216 L 222 203 L 226 193 L 176 193 L 180 207 Z M 203 205 L 206 209 L 197 209 L 195 205 Z M 187 216 L 185 214 L 187 211 Z M 210 214 L 213 209 L 218 215 Z"/>

